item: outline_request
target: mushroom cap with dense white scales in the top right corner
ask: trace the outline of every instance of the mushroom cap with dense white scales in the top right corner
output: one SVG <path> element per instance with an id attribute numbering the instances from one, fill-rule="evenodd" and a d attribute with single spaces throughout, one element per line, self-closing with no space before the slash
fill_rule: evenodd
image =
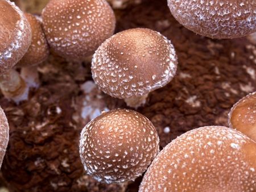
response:
<path id="1" fill-rule="evenodd" d="M 256 31 L 256 1 L 168 0 L 175 19 L 196 34 L 232 39 Z"/>

